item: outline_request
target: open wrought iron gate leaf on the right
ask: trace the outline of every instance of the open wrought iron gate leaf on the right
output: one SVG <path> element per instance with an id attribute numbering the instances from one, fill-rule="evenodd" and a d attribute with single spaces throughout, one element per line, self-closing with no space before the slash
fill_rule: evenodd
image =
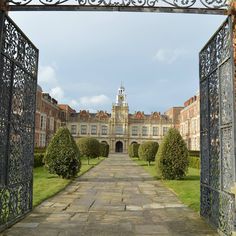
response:
<path id="1" fill-rule="evenodd" d="M 235 98 L 232 19 L 200 52 L 201 215 L 226 235 L 234 231 Z"/>

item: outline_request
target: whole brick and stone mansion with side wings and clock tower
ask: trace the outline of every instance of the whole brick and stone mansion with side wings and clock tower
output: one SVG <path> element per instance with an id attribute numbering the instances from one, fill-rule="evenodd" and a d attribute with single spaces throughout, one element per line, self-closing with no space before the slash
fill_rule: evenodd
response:
<path id="1" fill-rule="evenodd" d="M 189 150 L 200 149 L 200 98 L 197 94 L 184 103 L 172 107 L 164 114 L 153 112 L 129 113 L 125 89 L 118 90 L 111 113 L 98 111 L 76 112 L 67 104 L 58 104 L 42 88 L 37 88 L 35 117 L 35 146 L 45 147 L 61 126 L 67 126 L 75 139 L 91 136 L 107 142 L 111 152 L 127 152 L 132 142 L 153 140 L 161 142 L 170 127 L 179 129 Z"/>

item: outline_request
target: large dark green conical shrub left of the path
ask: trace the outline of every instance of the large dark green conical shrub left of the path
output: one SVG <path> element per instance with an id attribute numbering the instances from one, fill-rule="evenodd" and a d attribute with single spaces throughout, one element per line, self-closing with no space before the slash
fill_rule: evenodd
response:
<path id="1" fill-rule="evenodd" d="M 52 174 L 72 178 L 80 170 L 79 149 L 67 128 L 60 128 L 48 145 L 44 158 L 45 166 Z"/>

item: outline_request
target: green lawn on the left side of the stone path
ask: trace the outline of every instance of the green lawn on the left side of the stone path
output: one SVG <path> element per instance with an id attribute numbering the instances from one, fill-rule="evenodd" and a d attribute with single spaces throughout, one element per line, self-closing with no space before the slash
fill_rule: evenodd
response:
<path id="1" fill-rule="evenodd" d="M 95 165 L 99 164 L 104 158 L 90 159 L 88 165 L 86 159 L 82 159 L 81 170 L 78 176 L 84 174 Z M 37 206 L 43 200 L 55 195 L 60 190 L 65 188 L 71 180 L 62 179 L 57 175 L 49 174 L 44 167 L 38 167 L 34 169 L 34 187 L 33 187 L 33 205 Z"/>

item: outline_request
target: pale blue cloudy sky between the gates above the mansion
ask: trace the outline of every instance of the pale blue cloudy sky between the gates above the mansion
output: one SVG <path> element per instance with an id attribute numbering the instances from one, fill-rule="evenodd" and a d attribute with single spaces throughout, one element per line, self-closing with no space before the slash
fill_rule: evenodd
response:
<path id="1" fill-rule="evenodd" d="M 226 18 L 122 12 L 10 12 L 39 49 L 38 83 L 59 103 L 111 112 L 124 84 L 130 112 L 164 112 L 199 90 L 198 54 Z"/>

